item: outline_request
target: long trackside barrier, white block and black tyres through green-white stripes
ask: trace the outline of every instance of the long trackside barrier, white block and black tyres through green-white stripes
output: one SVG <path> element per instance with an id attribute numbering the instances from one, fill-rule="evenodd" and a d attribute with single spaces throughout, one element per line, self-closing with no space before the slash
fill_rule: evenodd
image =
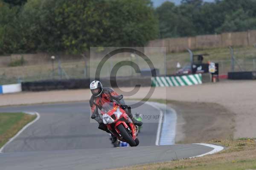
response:
<path id="1" fill-rule="evenodd" d="M 204 79 L 204 78 L 203 78 Z M 69 80 L 47 80 L 35 82 L 23 82 L 21 84 L 8 84 L 0 86 L 0 94 L 21 91 L 47 91 L 57 89 L 87 89 L 90 79 L 69 79 Z M 134 87 L 140 86 L 189 86 L 202 84 L 202 75 L 182 75 L 182 76 L 160 76 L 160 77 L 119 77 L 102 78 L 102 84 L 106 87 Z"/>

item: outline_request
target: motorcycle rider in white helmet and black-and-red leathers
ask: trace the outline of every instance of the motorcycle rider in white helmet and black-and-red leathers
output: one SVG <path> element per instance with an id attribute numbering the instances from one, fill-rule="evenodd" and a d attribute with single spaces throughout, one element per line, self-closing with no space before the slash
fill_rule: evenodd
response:
<path id="1" fill-rule="evenodd" d="M 92 119 L 95 119 L 99 123 L 99 129 L 110 133 L 107 126 L 103 124 L 102 117 L 98 112 L 98 108 L 101 110 L 102 105 L 106 102 L 115 102 L 119 104 L 122 109 L 125 110 L 126 114 L 131 118 L 133 123 L 137 126 L 142 126 L 141 121 L 137 121 L 134 116 L 128 111 L 127 106 L 125 105 L 125 101 L 122 98 L 122 95 L 119 95 L 111 88 L 103 88 L 102 83 L 100 81 L 92 81 L 90 84 L 90 90 L 92 92 L 92 96 L 90 98 L 90 107 L 92 111 Z M 112 143 L 116 141 L 116 137 L 112 136 Z"/>

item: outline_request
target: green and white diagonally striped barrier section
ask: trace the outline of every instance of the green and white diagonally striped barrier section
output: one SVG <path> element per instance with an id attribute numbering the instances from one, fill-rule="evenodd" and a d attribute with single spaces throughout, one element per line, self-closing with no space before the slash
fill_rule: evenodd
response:
<path id="1" fill-rule="evenodd" d="M 151 83 L 151 86 L 154 87 L 191 86 L 202 84 L 202 74 L 171 77 L 152 77 Z"/>

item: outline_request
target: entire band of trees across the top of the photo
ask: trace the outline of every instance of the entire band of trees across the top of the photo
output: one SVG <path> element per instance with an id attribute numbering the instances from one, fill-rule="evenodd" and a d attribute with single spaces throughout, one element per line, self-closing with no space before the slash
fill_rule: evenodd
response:
<path id="1" fill-rule="evenodd" d="M 144 46 L 149 40 L 256 29 L 256 0 L 0 0 L 0 54 Z"/>

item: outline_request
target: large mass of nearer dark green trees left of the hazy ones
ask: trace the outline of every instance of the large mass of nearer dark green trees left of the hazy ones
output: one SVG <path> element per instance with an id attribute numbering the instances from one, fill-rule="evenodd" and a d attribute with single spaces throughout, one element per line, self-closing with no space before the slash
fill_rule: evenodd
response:
<path id="1" fill-rule="evenodd" d="M 82 53 L 90 46 L 143 46 L 157 37 L 149 0 L 29 0 L 20 20 L 23 49 Z"/>

